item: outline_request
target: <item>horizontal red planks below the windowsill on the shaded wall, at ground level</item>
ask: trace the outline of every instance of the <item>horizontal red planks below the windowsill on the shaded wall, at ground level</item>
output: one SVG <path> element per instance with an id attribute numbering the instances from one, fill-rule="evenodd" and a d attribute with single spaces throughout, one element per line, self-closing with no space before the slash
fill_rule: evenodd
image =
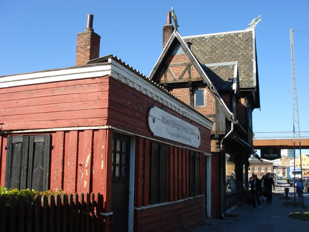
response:
<path id="1" fill-rule="evenodd" d="M 134 231 L 188 231 L 204 220 L 204 196 L 134 210 Z"/>

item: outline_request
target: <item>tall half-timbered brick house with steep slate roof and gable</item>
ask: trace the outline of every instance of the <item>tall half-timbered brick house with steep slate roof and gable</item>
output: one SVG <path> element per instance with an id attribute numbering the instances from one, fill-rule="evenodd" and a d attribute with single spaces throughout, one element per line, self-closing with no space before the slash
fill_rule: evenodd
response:
<path id="1" fill-rule="evenodd" d="M 163 51 L 149 78 L 214 121 L 210 217 L 222 217 L 243 200 L 248 158 L 258 157 L 252 146 L 252 111 L 260 108 L 254 28 L 181 37 L 167 12 Z M 225 187 L 231 167 L 236 191 Z"/>

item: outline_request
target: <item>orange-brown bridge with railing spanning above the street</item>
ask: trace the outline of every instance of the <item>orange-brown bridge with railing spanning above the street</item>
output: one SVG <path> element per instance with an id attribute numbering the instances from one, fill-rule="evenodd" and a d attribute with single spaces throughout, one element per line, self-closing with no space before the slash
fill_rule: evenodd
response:
<path id="1" fill-rule="evenodd" d="M 254 149 L 277 147 L 280 149 L 294 149 L 294 132 L 254 132 Z M 297 133 L 298 134 L 298 133 Z M 295 149 L 309 149 L 309 131 L 301 131 L 299 137 L 295 135 Z"/>

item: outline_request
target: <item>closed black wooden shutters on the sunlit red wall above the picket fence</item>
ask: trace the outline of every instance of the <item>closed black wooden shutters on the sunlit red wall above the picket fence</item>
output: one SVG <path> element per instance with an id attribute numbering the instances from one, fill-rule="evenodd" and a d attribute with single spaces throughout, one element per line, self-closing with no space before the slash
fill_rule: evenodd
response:
<path id="1" fill-rule="evenodd" d="M 48 190 L 50 134 L 8 136 L 5 187 Z"/>

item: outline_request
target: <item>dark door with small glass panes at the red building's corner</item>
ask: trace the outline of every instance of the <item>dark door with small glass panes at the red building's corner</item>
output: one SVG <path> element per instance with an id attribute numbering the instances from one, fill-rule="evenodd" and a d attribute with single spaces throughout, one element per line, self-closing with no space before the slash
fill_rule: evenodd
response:
<path id="1" fill-rule="evenodd" d="M 128 231 L 130 137 L 113 134 L 112 212 L 113 231 Z"/>

